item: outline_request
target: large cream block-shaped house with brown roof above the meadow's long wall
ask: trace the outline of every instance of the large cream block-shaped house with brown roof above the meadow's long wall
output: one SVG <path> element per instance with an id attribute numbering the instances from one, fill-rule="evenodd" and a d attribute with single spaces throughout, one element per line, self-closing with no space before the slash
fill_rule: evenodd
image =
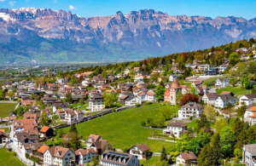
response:
<path id="1" fill-rule="evenodd" d="M 91 112 L 101 111 L 105 108 L 103 96 L 96 95 L 89 100 L 89 109 Z"/>

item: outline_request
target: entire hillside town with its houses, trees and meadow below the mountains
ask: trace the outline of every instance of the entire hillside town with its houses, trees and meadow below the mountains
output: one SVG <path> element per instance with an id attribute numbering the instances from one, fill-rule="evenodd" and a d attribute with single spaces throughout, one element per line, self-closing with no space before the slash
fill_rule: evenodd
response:
<path id="1" fill-rule="evenodd" d="M 25 165 L 256 165 L 255 40 L 0 71 L 0 154 Z M 1 152 L 3 151 L 3 152 Z"/>

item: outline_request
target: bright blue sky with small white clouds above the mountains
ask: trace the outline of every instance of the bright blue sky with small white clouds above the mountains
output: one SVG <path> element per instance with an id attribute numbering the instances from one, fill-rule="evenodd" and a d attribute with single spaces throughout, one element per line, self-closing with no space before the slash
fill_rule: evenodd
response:
<path id="1" fill-rule="evenodd" d="M 117 11 L 129 14 L 139 9 L 154 9 L 169 15 L 256 17 L 256 0 L 0 0 L 0 8 L 42 8 L 70 10 L 80 16 L 106 16 Z"/>

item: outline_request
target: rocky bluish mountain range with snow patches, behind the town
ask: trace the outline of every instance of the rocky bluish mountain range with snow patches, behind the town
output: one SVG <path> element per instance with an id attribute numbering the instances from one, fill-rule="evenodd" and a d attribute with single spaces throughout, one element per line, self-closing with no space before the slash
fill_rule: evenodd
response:
<path id="1" fill-rule="evenodd" d="M 53 9 L 0 9 L 0 62 L 124 61 L 256 37 L 256 18 L 168 15 L 154 9 L 80 17 Z"/>

